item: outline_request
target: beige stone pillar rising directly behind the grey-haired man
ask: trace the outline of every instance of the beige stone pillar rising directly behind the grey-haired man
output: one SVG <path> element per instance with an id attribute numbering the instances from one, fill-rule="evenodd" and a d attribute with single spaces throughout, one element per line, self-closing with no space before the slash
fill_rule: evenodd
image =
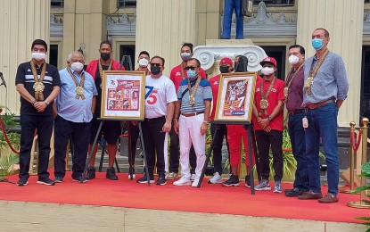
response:
<path id="1" fill-rule="evenodd" d="M 62 63 L 82 46 L 86 64 L 99 57 L 99 45 L 107 38 L 109 1 L 64 0 Z M 84 47 L 85 46 L 85 47 Z"/>

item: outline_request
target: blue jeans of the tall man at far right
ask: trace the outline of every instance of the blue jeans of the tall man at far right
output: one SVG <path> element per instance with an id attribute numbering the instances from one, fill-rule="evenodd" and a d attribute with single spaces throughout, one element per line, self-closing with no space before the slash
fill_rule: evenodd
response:
<path id="1" fill-rule="evenodd" d="M 315 110 L 308 110 L 308 128 L 306 129 L 306 155 L 308 164 L 309 188 L 321 193 L 319 145 L 320 137 L 324 146 L 327 165 L 328 193 L 338 194 L 339 158 L 337 139 L 338 110 L 335 103 L 325 104 Z"/>

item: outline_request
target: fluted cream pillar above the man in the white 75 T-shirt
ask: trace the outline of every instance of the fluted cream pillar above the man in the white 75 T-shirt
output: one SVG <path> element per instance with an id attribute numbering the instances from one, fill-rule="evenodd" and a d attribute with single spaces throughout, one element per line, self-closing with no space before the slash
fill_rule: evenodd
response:
<path id="1" fill-rule="evenodd" d="M 181 62 L 180 46 L 195 42 L 195 0 L 140 0 L 136 9 L 136 57 L 143 50 L 162 56 L 169 75 Z"/>

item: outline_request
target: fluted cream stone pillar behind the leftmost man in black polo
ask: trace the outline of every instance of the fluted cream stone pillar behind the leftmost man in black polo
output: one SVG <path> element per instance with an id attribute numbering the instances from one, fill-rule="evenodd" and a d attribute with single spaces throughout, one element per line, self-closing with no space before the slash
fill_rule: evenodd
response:
<path id="1" fill-rule="evenodd" d="M 2 0 L 0 15 L 0 71 L 7 86 L 6 91 L 0 87 L 0 104 L 19 114 L 20 95 L 14 84 L 17 67 L 31 59 L 33 40 L 41 38 L 49 45 L 50 0 Z"/>

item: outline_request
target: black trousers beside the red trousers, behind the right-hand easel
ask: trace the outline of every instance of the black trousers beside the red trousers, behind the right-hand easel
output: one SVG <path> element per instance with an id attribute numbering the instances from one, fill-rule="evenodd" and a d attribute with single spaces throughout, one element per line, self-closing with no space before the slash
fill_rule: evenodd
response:
<path id="1" fill-rule="evenodd" d="M 215 134 L 216 128 L 218 132 L 216 137 L 213 137 Z M 219 175 L 222 174 L 222 145 L 224 143 L 224 137 L 226 138 L 227 153 L 230 160 L 230 151 L 227 143 L 227 128 L 226 124 L 210 124 L 210 133 L 213 139 L 213 169 L 214 172 L 218 172 Z"/>

